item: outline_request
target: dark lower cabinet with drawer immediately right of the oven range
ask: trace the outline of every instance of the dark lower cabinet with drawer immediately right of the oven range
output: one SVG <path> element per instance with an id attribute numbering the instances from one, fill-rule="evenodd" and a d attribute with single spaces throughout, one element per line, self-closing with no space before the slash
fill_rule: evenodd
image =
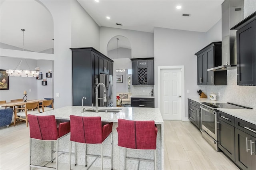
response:
<path id="1" fill-rule="evenodd" d="M 235 162 L 235 118 L 218 111 L 218 148 Z"/>

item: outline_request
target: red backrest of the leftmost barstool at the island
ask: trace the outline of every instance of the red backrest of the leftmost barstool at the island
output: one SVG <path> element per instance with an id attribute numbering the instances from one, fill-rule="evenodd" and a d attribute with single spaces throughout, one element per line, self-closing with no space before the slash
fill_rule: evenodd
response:
<path id="1" fill-rule="evenodd" d="M 30 138 L 40 140 L 57 140 L 58 128 L 54 115 L 28 115 Z"/>

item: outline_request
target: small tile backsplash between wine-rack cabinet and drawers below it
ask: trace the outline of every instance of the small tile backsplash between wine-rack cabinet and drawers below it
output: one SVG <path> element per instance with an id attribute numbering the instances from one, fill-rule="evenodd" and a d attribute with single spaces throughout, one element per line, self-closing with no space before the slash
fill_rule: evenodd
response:
<path id="1" fill-rule="evenodd" d="M 154 85 L 132 85 L 131 93 L 132 95 L 146 95 L 151 96 L 151 91 L 154 91 Z"/>

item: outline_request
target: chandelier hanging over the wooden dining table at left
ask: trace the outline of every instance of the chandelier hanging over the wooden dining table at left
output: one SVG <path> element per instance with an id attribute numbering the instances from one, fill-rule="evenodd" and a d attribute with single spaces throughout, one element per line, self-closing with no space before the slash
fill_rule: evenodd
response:
<path id="1" fill-rule="evenodd" d="M 21 30 L 23 32 L 23 51 L 24 51 L 24 31 L 25 31 L 25 29 L 21 29 Z M 6 73 L 9 76 L 15 76 L 15 77 L 20 77 L 20 76 L 21 77 L 37 77 L 39 72 L 38 71 L 30 71 L 31 69 L 30 69 L 26 59 L 25 59 L 25 61 L 26 61 L 26 64 L 28 65 L 29 70 L 20 70 L 19 69 L 19 67 L 20 67 L 20 65 L 22 63 L 22 60 L 23 59 L 20 60 L 20 62 L 18 63 L 18 65 L 17 65 L 15 70 L 8 69 L 8 70 L 6 70 Z"/>

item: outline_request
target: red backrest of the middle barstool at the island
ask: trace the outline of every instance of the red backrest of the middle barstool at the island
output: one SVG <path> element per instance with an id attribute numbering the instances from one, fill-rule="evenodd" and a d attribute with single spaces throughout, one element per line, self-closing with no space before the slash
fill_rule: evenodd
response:
<path id="1" fill-rule="evenodd" d="M 102 143 L 101 118 L 70 115 L 70 140 L 87 144 Z"/>

